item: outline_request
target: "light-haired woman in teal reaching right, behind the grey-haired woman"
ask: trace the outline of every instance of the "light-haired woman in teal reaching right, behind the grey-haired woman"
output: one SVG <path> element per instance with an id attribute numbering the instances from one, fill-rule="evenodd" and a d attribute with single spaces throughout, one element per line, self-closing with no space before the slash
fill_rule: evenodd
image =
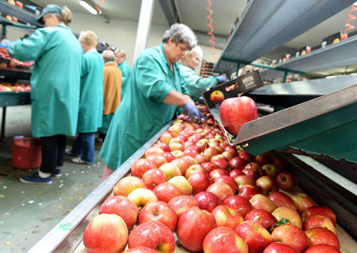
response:
<path id="1" fill-rule="evenodd" d="M 227 81 L 226 76 L 210 76 L 207 78 L 197 76 L 195 70 L 201 62 L 202 56 L 202 49 L 199 46 L 195 46 L 191 51 L 186 51 L 179 65 L 187 83 L 186 87 L 191 93 L 193 100 L 198 100 L 201 97 L 201 93 L 205 92 L 208 88 Z"/>

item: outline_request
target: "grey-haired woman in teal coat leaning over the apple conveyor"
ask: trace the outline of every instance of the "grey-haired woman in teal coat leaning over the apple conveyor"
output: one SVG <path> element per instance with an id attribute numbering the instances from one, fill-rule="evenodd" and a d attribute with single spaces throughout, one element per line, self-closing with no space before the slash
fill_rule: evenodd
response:
<path id="1" fill-rule="evenodd" d="M 114 114 L 99 157 L 106 163 L 103 180 L 141 148 L 183 106 L 188 118 L 201 120 L 177 61 L 196 45 L 193 31 L 174 24 L 163 43 L 136 59 L 124 100 Z"/>

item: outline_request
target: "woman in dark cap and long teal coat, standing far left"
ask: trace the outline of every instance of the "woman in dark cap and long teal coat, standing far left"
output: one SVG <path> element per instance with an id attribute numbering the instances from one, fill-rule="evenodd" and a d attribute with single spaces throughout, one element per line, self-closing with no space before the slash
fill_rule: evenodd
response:
<path id="1" fill-rule="evenodd" d="M 42 162 L 39 172 L 21 177 L 21 182 L 50 184 L 51 175 L 60 176 L 66 135 L 76 135 L 83 51 L 67 26 L 70 21 L 68 8 L 49 4 L 39 16 L 45 27 L 9 46 L 10 56 L 35 61 L 31 130 L 41 138 Z"/>

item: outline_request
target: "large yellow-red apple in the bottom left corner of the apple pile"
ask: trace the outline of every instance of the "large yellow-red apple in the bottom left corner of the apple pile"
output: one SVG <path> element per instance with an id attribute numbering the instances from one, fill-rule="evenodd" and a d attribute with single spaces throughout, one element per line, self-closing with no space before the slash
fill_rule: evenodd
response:
<path id="1" fill-rule="evenodd" d="M 84 230 L 86 252 L 122 252 L 128 240 L 128 228 L 119 215 L 97 215 Z"/>

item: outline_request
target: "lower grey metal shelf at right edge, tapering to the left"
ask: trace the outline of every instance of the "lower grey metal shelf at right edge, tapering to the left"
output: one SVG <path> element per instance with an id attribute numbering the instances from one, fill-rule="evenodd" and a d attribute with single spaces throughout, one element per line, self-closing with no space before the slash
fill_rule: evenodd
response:
<path id="1" fill-rule="evenodd" d="M 336 44 L 316 49 L 304 56 L 293 57 L 290 60 L 276 64 L 276 68 L 287 68 L 294 71 L 314 72 L 329 68 L 357 64 L 357 36 L 352 36 Z M 261 78 L 268 80 L 283 76 L 282 71 L 264 69 L 260 71 Z"/>

